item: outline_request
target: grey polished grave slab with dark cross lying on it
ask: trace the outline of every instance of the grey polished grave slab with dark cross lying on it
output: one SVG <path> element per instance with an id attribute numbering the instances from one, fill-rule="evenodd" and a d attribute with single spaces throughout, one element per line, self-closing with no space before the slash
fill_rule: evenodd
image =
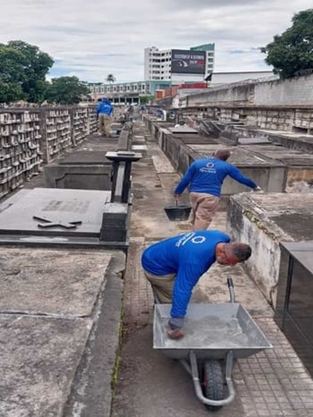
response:
<path id="1" fill-rule="evenodd" d="M 98 190 L 21 190 L 0 206 L 0 243 L 103 245 L 100 230 L 110 196 Z"/>

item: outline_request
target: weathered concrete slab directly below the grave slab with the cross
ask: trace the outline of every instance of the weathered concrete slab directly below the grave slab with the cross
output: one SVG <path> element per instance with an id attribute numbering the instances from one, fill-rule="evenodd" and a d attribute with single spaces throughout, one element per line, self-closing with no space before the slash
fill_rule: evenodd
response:
<path id="1" fill-rule="evenodd" d="M 105 251 L 3 248 L 0 312 L 88 316 L 111 258 Z"/>

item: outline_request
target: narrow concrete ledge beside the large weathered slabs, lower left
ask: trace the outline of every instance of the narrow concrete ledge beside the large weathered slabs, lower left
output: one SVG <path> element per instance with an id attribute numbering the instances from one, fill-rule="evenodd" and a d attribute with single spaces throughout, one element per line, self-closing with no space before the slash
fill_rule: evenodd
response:
<path id="1" fill-rule="evenodd" d="M 125 255 L 113 255 L 95 307 L 95 322 L 63 417 L 110 417 L 120 349 Z"/>

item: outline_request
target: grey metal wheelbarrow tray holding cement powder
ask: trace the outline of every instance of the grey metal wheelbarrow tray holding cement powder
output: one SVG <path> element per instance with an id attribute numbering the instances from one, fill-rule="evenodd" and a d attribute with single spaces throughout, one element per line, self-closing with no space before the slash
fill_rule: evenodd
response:
<path id="1" fill-rule="evenodd" d="M 189 304 L 185 336 L 170 339 L 166 334 L 170 304 L 155 304 L 153 348 L 173 359 L 188 359 L 193 351 L 198 359 L 223 359 L 229 351 L 234 358 L 247 358 L 270 349 L 262 330 L 241 304 Z"/>

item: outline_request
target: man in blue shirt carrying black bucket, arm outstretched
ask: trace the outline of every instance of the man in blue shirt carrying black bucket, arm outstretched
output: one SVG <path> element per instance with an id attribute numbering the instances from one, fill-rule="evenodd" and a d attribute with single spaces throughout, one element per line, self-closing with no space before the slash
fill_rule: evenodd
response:
<path id="1" fill-rule="evenodd" d="M 174 197 L 178 200 L 189 185 L 193 230 L 205 230 L 210 225 L 218 207 L 223 181 L 228 175 L 255 191 L 261 191 L 254 181 L 226 162 L 229 157 L 228 149 L 218 149 L 212 158 L 194 161 L 175 188 Z"/>

